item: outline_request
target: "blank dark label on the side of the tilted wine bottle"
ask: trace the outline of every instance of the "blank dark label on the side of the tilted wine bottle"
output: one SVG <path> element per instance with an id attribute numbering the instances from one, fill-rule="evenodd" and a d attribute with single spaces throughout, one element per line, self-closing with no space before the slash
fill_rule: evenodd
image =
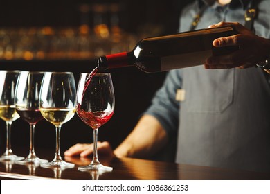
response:
<path id="1" fill-rule="evenodd" d="M 163 57 L 161 58 L 161 71 L 169 71 L 171 69 L 180 69 L 204 64 L 205 60 L 212 55 L 212 50 L 206 50 Z"/>

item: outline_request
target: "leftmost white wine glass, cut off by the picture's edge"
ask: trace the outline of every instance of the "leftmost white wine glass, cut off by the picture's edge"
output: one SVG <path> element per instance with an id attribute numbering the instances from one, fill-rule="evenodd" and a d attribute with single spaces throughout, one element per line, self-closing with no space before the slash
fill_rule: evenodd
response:
<path id="1" fill-rule="evenodd" d="M 6 121 L 6 152 L 0 161 L 21 160 L 11 149 L 10 132 L 12 122 L 19 118 L 15 109 L 15 87 L 20 71 L 0 71 L 0 118 Z"/>

